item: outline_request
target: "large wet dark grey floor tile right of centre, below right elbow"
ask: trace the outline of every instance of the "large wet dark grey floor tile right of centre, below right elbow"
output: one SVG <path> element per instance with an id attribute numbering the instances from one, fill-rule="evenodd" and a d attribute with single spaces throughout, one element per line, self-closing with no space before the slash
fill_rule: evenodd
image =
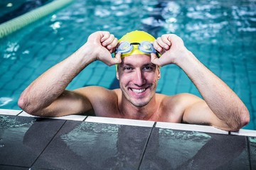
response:
<path id="1" fill-rule="evenodd" d="M 246 145 L 245 137 L 240 136 L 155 128 L 142 167 L 245 169 L 250 167 Z"/>

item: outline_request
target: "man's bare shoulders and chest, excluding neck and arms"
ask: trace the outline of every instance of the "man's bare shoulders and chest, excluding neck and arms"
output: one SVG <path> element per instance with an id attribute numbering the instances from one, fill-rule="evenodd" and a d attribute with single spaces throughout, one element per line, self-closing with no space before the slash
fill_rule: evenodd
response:
<path id="1" fill-rule="evenodd" d="M 90 86 L 78 89 L 78 91 L 82 96 L 87 96 L 95 115 L 110 118 L 132 118 L 127 117 L 125 113 L 120 111 L 122 98 L 122 91 L 120 89 L 108 90 L 99 86 Z M 197 96 L 191 94 L 177 94 L 174 96 L 156 94 L 155 97 L 156 103 L 147 107 L 146 112 L 144 112 L 146 114 L 149 113 L 150 116 L 132 119 L 181 123 L 185 108 L 191 103 L 191 100 L 198 100 Z M 127 111 L 132 111 L 132 109 L 129 108 Z M 136 111 L 134 113 L 135 115 L 140 114 Z"/>

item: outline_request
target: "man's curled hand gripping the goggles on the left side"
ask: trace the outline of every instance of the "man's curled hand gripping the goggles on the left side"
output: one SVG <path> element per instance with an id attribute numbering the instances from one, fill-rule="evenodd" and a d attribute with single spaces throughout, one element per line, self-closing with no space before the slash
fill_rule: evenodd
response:
<path id="1" fill-rule="evenodd" d="M 111 56 L 117 46 L 117 38 L 114 38 L 114 35 L 107 31 L 92 33 L 88 37 L 86 45 L 93 51 L 92 57 L 94 57 L 94 60 L 100 60 L 108 66 L 121 62 L 121 54 L 115 55 L 114 58 Z"/>

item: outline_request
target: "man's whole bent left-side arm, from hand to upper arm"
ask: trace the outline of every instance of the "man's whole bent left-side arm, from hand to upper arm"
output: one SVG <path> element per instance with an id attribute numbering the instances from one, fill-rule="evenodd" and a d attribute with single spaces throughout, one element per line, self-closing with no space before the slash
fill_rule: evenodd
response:
<path id="1" fill-rule="evenodd" d="M 18 106 L 32 115 L 60 116 L 81 113 L 92 108 L 90 98 L 79 91 L 67 91 L 75 76 L 95 60 L 107 65 L 121 62 L 119 55 L 112 58 L 111 52 L 117 38 L 108 32 L 99 31 L 89 36 L 73 55 L 48 69 L 33 81 L 21 94 Z"/>

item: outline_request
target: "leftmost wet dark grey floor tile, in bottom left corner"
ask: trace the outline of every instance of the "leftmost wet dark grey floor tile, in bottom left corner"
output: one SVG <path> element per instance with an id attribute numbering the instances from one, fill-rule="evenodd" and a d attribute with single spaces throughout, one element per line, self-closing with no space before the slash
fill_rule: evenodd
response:
<path id="1" fill-rule="evenodd" d="M 0 115 L 0 164 L 31 167 L 64 122 Z"/>

